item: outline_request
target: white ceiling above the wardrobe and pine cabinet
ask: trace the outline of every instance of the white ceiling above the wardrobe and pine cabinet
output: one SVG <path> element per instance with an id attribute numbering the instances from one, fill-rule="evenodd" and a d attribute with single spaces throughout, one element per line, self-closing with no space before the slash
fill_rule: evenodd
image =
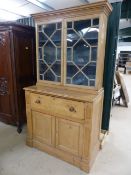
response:
<path id="1" fill-rule="evenodd" d="M 62 9 L 100 0 L 1 0 L 0 21 L 14 21 L 30 14 Z M 109 0 L 121 1 L 121 0 Z"/>

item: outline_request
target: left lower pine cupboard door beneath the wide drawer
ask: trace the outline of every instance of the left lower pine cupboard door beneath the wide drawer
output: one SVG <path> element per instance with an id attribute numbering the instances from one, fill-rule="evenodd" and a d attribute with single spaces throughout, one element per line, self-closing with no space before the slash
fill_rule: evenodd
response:
<path id="1" fill-rule="evenodd" d="M 40 112 L 32 112 L 33 138 L 41 143 L 54 145 L 55 118 Z"/>

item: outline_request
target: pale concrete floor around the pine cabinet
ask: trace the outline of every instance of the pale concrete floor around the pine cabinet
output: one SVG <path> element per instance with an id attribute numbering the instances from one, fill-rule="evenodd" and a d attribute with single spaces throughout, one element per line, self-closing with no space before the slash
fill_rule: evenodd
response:
<path id="1" fill-rule="evenodd" d="M 131 75 L 124 75 L 131 98 Z M 86 175 L 78 168 L 25 145 L 16 128 L 0 123 L 0 175 Z M 112 109 L 110 133 L 90 175 L 131 175 L 131 104 Z"/>

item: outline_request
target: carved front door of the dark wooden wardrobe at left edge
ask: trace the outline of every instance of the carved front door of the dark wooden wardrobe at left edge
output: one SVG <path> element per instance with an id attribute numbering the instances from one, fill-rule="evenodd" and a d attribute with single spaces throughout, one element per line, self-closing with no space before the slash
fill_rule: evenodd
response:
<path id="1" fill-rule="evenodd" d="M 0 32 L 0 120 L 14 123 L 13 83 L 11 71 L 10 36 Z"/>

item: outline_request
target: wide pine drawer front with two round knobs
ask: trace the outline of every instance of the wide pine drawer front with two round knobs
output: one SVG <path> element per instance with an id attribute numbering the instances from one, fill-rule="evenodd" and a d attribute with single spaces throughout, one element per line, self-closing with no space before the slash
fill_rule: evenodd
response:
<path id="1" fill-rule="evenodd" d="M 31 107 L 52 115 L 84 119 L 84 103 L 46 95 L 31 94 Z"/>

